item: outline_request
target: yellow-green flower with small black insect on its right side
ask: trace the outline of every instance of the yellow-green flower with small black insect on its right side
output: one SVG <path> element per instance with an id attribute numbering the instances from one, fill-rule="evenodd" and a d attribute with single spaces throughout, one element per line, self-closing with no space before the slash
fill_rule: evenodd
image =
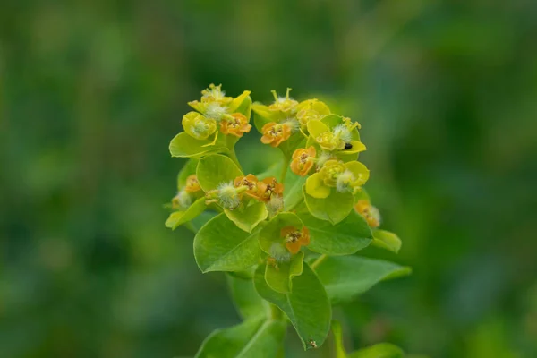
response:
<path id="1" fill-rule="evenodd" d="M 321 121 L 308 122 L 308 132 L 311 137 L 319 144 L 321 149 L 345 150 L 347 154 L 354 154 L 365 150 L 365 145 L 361 141 L 353 140 L 353 130 L 359 124 L 352 124 L 350 120 L 342 124 L 337 124 L 334 129 L 330 130 L 327 124 Z"/>

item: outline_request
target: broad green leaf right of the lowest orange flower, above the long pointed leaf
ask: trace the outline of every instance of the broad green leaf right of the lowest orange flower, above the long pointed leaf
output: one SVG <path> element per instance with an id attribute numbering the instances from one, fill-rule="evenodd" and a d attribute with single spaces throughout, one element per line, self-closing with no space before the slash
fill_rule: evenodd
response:
<path id="1" fill-rule="evenodd" d="M 371 243 L 370 226 L 354 210 L 336 225 L 313 217 L 309 212 L 298 212 L 298 217 L 310 229 L 308 249 L 311 251 L 328 255 L 350 255 Z"/>

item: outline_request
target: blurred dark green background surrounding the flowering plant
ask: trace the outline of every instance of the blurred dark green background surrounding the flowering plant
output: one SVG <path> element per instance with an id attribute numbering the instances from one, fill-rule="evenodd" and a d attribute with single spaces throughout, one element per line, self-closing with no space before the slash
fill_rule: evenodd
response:
<path id="1" fill-rule="evenodd" d="M 536 357 L 536 19 L 530 0 L 3 1 L 0 356 L 192 356 L 238 322 L 162 209 L 183 165 L 168 142 L 215 82 L 362 124 L 404 242 L 365 254 L 413 276 L 336 311 L 349 349 Z M 252 171 L 263 155 L 240 142 Z"/>

